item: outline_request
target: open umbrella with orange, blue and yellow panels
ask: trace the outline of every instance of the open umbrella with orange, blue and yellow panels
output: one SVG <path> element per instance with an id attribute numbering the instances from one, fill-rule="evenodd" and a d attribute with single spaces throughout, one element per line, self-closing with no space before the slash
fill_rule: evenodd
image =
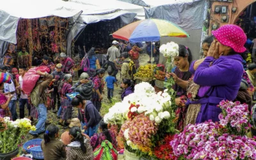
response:
<path id="1" fill-rule="evenodd" d="M 113 38 L 137 42 L 156 42 L 161 36 L 189 37 L 177 24 L 163 19 L 145 19 L 133 22 L 112 34 Z"/>

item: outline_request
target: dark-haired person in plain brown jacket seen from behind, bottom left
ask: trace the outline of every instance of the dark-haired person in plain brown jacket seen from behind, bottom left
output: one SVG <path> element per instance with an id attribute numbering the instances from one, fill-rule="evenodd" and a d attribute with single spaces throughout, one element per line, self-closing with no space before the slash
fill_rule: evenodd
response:
<path id="1" fill-rule="evenodd" d="M 62 141 L 56 140 L 59 136 L 59 128 L 56 125 L 49 125 L 41 142 L 45 160 L 59 160 L 66 158 L 65 145 Z"/>

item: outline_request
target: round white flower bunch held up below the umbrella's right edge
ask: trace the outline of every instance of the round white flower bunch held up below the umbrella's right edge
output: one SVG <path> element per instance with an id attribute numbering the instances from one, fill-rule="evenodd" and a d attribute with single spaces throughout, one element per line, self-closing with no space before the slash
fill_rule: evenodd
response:
<path id="1" fill-rule="evenodd" d="M 167 44 L 161 45 L 159 51 L 166 58 L 175 58 L 179 56 L 179 45 L 175 42 L 169 42 Z"/>

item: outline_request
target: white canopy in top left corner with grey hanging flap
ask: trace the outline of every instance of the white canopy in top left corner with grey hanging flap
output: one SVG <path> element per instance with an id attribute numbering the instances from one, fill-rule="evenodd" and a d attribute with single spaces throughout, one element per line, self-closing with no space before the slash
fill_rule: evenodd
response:
<path id="1" fill-rule="evenodd" d="M 0 5 L 0 40 L 16 44 L 19 19 L 35 19 L 47 16 L 73 17 L 81 12 L 68 8 L 61 0 L 8 0 Z"/>

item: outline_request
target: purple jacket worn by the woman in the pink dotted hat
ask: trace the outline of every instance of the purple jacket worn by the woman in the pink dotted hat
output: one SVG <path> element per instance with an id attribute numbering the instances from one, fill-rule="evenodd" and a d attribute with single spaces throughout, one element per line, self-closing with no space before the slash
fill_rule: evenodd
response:
<path id="1" fill-rule="evenodd" d="M 207 57 L 196 71 L 193 69 L 195 63 L 193 61 L 189 70 L 194 74 L 194 82 L 200 86 L 211 86 L 204 97 L 191 102 L 191 104 L 198 104 L 198 102 L 202 104 L 196 124 L 206 120 L 219 121 L 218 115 L 221 109 L 216 106 L 221 100 L 236 98 L 243 75 L 242 61 L 243 58 L 239 54 L 221 56 L 216 60 L 213 57 Z"/>

